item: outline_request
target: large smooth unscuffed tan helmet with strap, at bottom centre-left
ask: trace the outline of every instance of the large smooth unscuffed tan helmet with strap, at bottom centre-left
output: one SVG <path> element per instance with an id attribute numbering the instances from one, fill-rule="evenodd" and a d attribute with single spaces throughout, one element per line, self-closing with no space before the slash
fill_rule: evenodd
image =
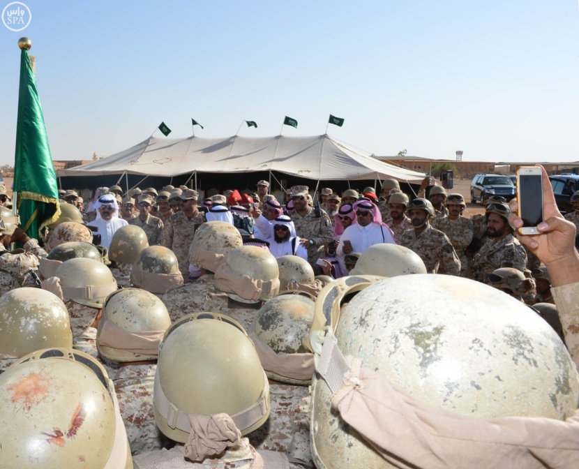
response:
<path id="1" fill-rule="evenodd" d="M 155 421 L 177 442 L 188 441 L 190 414 L 230 415 L 242 435 L 269 417 L 260 358 L 243 327 L 227 316 L 195 313 L 175 322 L 160 343 L 155 379 Z M 234 417 L 250 408 L 255 413 Z"/>

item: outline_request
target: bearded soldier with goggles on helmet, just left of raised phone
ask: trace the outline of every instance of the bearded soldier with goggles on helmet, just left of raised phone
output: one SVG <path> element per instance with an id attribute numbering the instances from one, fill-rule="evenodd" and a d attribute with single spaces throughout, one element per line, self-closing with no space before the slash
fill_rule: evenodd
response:
<path id="1" fill-rule="evenodd" d="M 503 204 L 488 204 L 486 207 L 488 241 L 474 256 L 474 280 L 486 282 L 486 276 L 500 267 L 525 270 L 527 254 L 518 239 L 513 237 L 513 228 L 508 222 L 509 214 L 509 207 Z"/>

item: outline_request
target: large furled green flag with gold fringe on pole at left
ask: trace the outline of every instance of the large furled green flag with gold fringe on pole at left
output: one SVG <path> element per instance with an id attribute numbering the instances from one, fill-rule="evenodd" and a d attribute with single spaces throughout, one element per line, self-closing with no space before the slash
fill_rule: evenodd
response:
<path id="1" fill-rule="evenodd" d="M 36 80 L 25 49 L 20 54 L 14 191 L 22 230 L 40 239 L 40 230 L 60 215 L 59 190 Z"/>

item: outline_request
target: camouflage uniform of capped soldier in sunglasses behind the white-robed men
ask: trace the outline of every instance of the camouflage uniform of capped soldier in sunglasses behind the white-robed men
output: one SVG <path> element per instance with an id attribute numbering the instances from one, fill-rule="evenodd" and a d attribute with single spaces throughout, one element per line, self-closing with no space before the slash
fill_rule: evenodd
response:
<path id="1" fill-rule="evenodd" d="M 307 244 L 308 262 L 315 262 L 324 257 L 324 247 L 333 239 L 332 223 L 330 217 L 322 209 L 320 216 L 315 216 L 315 209 L 308 206 L 308 213 L 301 216 L 292 211 L 289 216 L 296 227 L 296 234 L 301 239 L 313 239 L 314 244 Z"/>

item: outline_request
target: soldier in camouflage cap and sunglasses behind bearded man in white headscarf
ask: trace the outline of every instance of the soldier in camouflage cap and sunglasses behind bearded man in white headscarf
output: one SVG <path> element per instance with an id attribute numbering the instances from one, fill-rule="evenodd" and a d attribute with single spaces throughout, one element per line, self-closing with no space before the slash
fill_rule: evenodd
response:
<path id="1" fill-rule="evenodd" d="M 324 248 L 333 239 L 330 217 L 325 211 L 308 205 L 308 187 L 295 186 L 292 191 L 294 211 L 289 215 L 294 221 L 300 243 L 308 249 L 308 262 L 324 257 Z"/>

